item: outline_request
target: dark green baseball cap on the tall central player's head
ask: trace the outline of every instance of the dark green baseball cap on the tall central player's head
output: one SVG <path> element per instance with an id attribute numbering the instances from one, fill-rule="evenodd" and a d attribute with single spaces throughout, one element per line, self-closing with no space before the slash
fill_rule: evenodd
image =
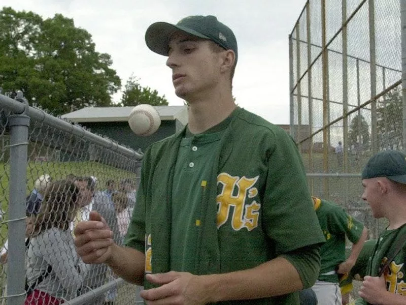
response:
<path id="1" fill-rule="evenodd" d="M 225 50 L 233 50 L 235 62 L 237 61 L 237 41 L 234 33 L 215 16 L 189 16 L 177 24 L 155 22 L 148 27 L 145 42 L 155 53 L 168 56 L 169 40 L 177 31 L 211 40 Z"/>

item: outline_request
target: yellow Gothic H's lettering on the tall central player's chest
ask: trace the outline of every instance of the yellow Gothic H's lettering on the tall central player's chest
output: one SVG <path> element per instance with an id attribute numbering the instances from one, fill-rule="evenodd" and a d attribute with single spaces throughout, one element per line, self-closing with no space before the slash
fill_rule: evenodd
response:
<path id="1" fill-rule="evenodd" d="M 233 207 L 231 227 L 234 230 L 247 228 L 249 231 L 258 226 L 259 209 L 261 205 L 255 200 L 245 205 L 247 197 L 253 198 L 258 190 L 253 188 L 259 176 L 247 178 L 245 176 L 230 176 L 221 173 L 217 176 L 217 183 L 223 185 L 221 193 L 217 195 L 217 228 L 220 228 L 228 220 Z"/>

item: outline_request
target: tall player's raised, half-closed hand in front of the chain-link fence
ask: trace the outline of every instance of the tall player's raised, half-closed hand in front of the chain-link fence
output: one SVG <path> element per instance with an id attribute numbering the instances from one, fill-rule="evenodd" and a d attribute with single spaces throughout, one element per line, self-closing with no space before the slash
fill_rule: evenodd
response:
<path id="1" fill-rule="evenodd" d="M 76 250 L 87 264 L 104 263 L 111 256 L 113 232 L 97 212 L 91 211 L 89 219 L 74 229 Z"/>

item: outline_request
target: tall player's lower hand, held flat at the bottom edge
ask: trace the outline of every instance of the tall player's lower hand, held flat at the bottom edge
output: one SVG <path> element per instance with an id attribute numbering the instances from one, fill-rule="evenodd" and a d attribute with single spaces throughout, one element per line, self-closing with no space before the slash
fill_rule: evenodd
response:
<path id="1" fill-rule="evenodd" d="M 187 272 L 167 272 L 147 275 L 151 283 L 162 285 L 141 291 L 149 305 L 182 304 L 203 305 L 209 302 L 208 295 L 203 289 L 204 285 L 199 282 L 199 276 Z"/>

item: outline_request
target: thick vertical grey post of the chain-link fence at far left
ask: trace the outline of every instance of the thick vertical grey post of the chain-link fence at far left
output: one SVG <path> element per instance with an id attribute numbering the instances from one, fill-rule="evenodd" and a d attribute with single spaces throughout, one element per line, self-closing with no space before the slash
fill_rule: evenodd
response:
<path id="1" fill-rule="evenodd" d="M 25 103 L 25 110 L 27 110 L 28 102 L 23 98 L 20 98 L 20 101 Z M 21 305 L 25 299 L 25 190 L 29 116 L 25 113 L 14 114 L 10 116 L 9 122 L 10 200 L 7 303 L 8 305 Z"/>

